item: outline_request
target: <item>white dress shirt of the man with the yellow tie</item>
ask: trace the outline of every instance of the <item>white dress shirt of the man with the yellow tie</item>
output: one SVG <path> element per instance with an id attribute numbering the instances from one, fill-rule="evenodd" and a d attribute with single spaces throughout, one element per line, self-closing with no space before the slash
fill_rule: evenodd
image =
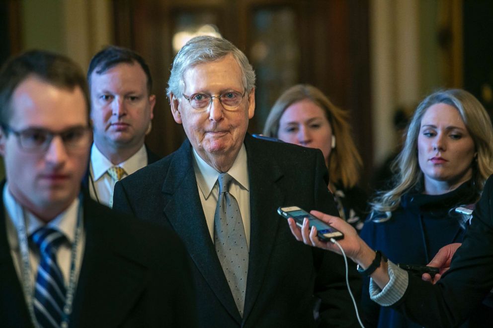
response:
<path id="1" fill-rule="evenodd" d="M 142 147 L 126 161 L 114 165 L 99 151 L 96 144 L 92 144 L 91 162 L 89 165 L 89 194 L 92 199 L 101 204 L 113 206 L 113 189 L 116 181 L 108 174 L 108 169 L 112 166 L 119 166 L 125 170 L 123 177 L 126 177 L 135 171 L 147 165 L 146 146 Z"/>

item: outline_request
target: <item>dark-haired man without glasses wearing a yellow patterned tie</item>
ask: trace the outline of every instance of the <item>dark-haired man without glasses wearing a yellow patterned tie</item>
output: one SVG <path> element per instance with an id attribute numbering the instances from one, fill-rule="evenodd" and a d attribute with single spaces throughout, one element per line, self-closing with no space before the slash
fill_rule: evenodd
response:
<path id="1" fill-rule="evenodd" d="M 93 199 L 112 206 L 116 181 L 159 160 L 145 144 L 156 96 L 149 66 L 136 52 L 108 46 L 89 64 L 94 143 L 84 187 Z"/>

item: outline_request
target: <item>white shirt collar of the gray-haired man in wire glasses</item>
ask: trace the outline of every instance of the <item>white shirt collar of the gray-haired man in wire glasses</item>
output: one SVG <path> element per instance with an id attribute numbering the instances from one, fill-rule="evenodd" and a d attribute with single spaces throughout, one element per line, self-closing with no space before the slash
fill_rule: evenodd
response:
<path id="1" fill-rule="evenodd" d="M 207 199 L 211 194 L 214 185 L 216 184 L 220 172 L 207 164 L 199 156 L 195 149 L 193 149 L 193 157 L 195 159 L 194 170 L 197 177 L 197 185 L 204 195 L 204 198 Z M 235 179 L 236 182 L 240 184 L 243 189 L 249 191 L 250 186 L 248 182 L 248 168 L 245 144 L 242 144 L 242 148 L 240 149 L 240 152 L 238 153 L 233 166 L 228 170 L 227 173 L 232 176 L 233 179 Z"/>

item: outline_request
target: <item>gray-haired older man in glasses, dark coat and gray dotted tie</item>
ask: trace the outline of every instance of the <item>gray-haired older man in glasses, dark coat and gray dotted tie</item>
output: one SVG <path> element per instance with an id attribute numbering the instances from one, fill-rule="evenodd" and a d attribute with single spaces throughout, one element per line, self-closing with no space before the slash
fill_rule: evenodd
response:
<path id="1" fill-rule="evenodd" d="M 356 326 L 342 258 L 296 243 L 276 213 L 286 205 L 337 213 L 322 153 L 246 134 L 254 82 L 246 56 L 229 41 L 190 40 L 174 59 L 168 88 L 188 138 L 118 182 L 114 207 L 182 238 L 201 327 Z"/>

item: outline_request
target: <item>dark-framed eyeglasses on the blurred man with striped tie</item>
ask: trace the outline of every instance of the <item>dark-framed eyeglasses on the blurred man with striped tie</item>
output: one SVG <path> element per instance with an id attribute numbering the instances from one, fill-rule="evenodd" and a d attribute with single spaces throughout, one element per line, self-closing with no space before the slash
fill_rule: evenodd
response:
<path id="1" fill-rule="evenodd" d="M 9 126 L 2 125 L 5 133 L 12 133 L 17 137 L 19 147 L 30 152 L 46 151 L 53 138 L 59 135 L 62 138 L 66 149 L 81 150 L 89 147 L 90 131 L 89 127 L 73 127 L 64 131 L 54 132 L 42 128 L 28 128 L 15 131 Z"/>

